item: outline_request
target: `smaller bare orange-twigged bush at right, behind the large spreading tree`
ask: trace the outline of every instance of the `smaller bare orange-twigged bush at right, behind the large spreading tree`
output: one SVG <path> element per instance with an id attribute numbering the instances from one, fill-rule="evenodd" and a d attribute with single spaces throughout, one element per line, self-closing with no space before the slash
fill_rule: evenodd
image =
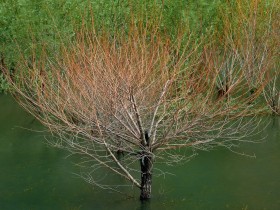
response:
<path id="1" fill-rule="evenodd" d="M 265 88 L 265 99 L 270 101 L 269 106 L 271 103 L 275 105 L 277 79 L 274 75 L 279 74 L 279 2 L 238 0 L 234 5 L 235 10 L 223 18 L 221 51 L 227 59 L 222 66 L 220 86 L 225 90 L 232 80 L 232 73 L 240 71 L 246 79 L 245 92 L 250 95 L 260 96 L 264 86 L 270 83 Z M 272 80 L 274 82 L 270 82 Z"/>

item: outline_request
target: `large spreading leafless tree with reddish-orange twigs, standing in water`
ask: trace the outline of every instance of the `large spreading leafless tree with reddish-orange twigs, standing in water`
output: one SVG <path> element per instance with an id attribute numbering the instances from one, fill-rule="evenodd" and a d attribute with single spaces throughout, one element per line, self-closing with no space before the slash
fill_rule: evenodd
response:
<path id="1" fill-rule="evenodd" d="M 131 26 L 114 37 L 85 30 L 57 59 L 43 52 L 32 65 L 23 61 L 10 82 L 19 103 L 57 135 L 52 144 L 89 166 L 83 178 L 109 188 L 94 176 L 107 168 L 138 187 L 145 200 L 155 161 L 187 159 L 191 155 L 179 153 L 183 148 L 234 151 L 254 132 L 242 117 L 249 100 L 240 94 L 243 74 L 233 74 L 226 90 L 231 97 L 217 100 L 227 59 L 180 40 L 171 42 L 156 27 Z"/>

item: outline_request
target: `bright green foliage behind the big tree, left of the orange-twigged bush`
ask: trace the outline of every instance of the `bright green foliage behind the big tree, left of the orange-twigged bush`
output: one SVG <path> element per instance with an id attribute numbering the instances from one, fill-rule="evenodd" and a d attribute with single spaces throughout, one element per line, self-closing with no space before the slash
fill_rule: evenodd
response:
<path id="1" fill-rule="evenodd" d="M 75 29 L 90 24 L 114 32 L 128 27 L 130 19 L 161 19 L 162 30 L 175 33 L 178 25 L 190 25 L 193 31 L 206 30 L 218 20 L 217 0 L 2 0 L 0 3 L 0 53 L 7 63 L 15 58 L 18 46 L 30 53 L 32 44 L 58 48 L 61 39 L 71 38 Z"/>

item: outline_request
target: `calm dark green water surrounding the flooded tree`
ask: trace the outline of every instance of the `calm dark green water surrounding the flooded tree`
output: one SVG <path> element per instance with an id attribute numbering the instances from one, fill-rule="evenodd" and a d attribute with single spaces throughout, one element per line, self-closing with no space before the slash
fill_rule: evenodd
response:
<path id="1" fill-rule="evenodd" d="M 90 186 L 67 153 L 48 147 L 43 128 L 14 100 L 0 95 L 0 210 L 9 209 L 280 209 L 280 118 L 260 134 L 266 142 L 242 145 L 248 158 L 219 149 L 192 161 L 161 168 L 171 172 L 153 180 L 153 198 L 135 198 Z"/>

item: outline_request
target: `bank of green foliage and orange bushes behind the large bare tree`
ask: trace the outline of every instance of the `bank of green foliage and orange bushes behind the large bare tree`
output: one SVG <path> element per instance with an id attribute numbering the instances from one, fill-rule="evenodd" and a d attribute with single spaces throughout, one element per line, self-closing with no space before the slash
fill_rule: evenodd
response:
<path id="1" fill-rule="evenodd" d="M 217 97 L 228 91 L 230 74 L 243 68 L 243 92 L 258 95 L 250 103 L 252 110 L 279 115 L 279 5 L 274 0 L 3 1 L 0 91 L 11 90 L 4 69 L 16 77 L 22 57 L 31 63 L 34 53 L 39 58 L 47 51 L 51 59 L 59 56 L 66 43 L 75 42 L 85 28 L 114 37 L 128 31 L 134 22 L 146 24 L 148 30 L 157 27 L 171 42 L 182 39 L 184 45 L 191 40 L 203 59 L 197 68 L 224 68 L 218 70 Z M 224 66 L 217 67 L 221 61 Z"/>

